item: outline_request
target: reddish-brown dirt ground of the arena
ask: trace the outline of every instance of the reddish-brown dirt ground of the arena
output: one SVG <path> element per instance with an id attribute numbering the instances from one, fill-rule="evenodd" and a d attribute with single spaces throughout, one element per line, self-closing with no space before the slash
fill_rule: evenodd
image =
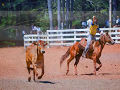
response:
<path id="1" fill-rule="evenodd" d="M 24 48 L 0 48 L 0 90 L 120 90 L 120 44 L 105 46 L 100 58 L 103 66 L 96 76 L 91 74 L 89 59 L 80 59 L 77 76 L 73 60 L 66 76 L 66 61 L 61 68 L 59 62 L 67 49 L 46 48 L 43 78 L 28 82 Z"/>

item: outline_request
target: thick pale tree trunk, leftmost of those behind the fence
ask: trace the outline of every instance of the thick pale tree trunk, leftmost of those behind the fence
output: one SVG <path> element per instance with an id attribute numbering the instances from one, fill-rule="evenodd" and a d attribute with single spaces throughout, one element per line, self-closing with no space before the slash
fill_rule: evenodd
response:
<path id="1" fill-rule="evenodd" d="M 49 20 L 50 20 L 50 30 L 53 29 L 53 18 L 52 18 L 52 0 L 48 0 L 48 13 L 49 13 Z"/>

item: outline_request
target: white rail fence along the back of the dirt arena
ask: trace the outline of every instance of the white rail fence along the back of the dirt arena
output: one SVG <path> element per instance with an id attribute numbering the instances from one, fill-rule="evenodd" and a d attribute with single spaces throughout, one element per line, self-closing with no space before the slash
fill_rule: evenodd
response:
<path id="1" fill-rule="evenodd" d="M 101 31 L 107 32 L 111 35 L 115 43 L 120 43 L 120 28 L 100 28 Z M 89 29 L 66 29 L 66 30 L 47 30 L 46 34 L 24 35 L 24 47 L 29 46 L 32 42 L 44 40 L 48 42 L 48 46 L 70 46 L 82 38 L 87 38 Z M 98 40 L 100 34 L 96 34 Z"/>

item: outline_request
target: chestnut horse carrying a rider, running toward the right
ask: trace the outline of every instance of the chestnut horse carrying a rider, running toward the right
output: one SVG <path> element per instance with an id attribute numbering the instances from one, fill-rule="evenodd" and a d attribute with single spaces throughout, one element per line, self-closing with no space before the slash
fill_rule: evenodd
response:
<path id="1" fill-rule="evenodd" d="M 86 43 L 86 42 L 87 42 L 87 40 L 85 38 L 82 39 L 79 44 L 75 43 L 73 46 L 68 48 L 67 52 L 64 55 L 61 56 L 60 66 L 62 65 L 63 61 L 65 61 L 65 59 L 70 55 L 70 57 L 67 59 L 66 75 L 69 72 L 69 64 L 74 58 L 75 58 L 75 63 L 74 63 L 75 75 L 77 75 L 77 64 L 79 63 L 79 59 L 82 56 L 82 53 L 85 49 L 85 45 L 83 43 Z M 101 34 L 99 40 L 91 41 L 90 48 L 86 54 L 86 58 L 93 60 L 93 64 L 94 64 L 94 73 L 93 74 L 94 75 L 96 75 L 96 71 L 98 71 L 102 67 L 102 63 L 99 58 L 101 57 L 102 50 L 106 43 L 109 43 L 112 45 L 114 44 L 114 41 L 112 40 L 112 38 L 110 37 L 108 32 L 106 32 L 105 34 Z M 73 49 L 73 47 L 79 48 L 78 54 L 74 53 L 76 51 L 75 51 L 75 49 Z M 96 63 L 99 64 L 99 66 L 97 68 L 96 68 Z"/>

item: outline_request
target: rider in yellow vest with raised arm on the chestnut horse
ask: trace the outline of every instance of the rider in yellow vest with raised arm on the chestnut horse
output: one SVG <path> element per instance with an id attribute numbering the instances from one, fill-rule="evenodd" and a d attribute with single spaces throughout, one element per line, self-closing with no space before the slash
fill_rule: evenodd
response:
<path id="1" fill-rule="evenodd" d="M 88 39 L 87 39 L 87 45 L 85 47 L 85 50 L 83 51 L 82 57 L 86 57 L 86 53 L 89 50 L 90 44 L 92 40 L 96 40 L 95 35 L 96 32 L 100 33 L 100 29 L 97 25 L 97 18 L 95 16 L 93 16 L 93 20 L 89 29 L 89 35 L 88 35 Z"/>

